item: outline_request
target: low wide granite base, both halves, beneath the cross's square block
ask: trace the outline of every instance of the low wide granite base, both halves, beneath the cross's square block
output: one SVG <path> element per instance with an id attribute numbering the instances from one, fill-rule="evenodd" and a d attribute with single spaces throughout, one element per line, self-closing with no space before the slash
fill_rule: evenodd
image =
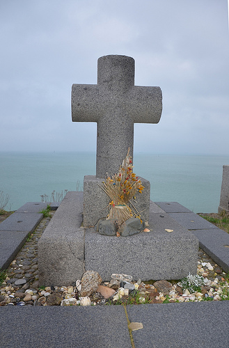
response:
<path id="1" fill-rule="evenodd" d="M 134 280 L 196 274 L 198 239 L 155 203 L 150 202 L 152 231 L 109 237 L 81 227 L 83 199 L 82 192 L 68 192 L 38 242 L 40 286 L 71 285 L 87 270 L 97 271 L 102 280 L 113 273 Z"/>

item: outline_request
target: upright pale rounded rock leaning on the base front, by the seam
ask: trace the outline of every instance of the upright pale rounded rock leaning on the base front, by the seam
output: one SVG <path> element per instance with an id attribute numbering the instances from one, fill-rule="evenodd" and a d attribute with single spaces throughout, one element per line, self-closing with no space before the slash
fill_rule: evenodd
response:
<path id="1" fill-rule="evenodd" d="M 81 297 L 93 294 L 101 282 L 100 274 L 95 271 L 86 271 L 81 278 Z"/>

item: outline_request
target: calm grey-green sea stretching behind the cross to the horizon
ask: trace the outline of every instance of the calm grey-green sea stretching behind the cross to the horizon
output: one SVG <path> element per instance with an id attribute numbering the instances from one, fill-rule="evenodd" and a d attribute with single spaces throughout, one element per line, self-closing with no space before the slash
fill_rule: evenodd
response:
<path id="1" fill-rule="evenodd" d="M 65 190 L 83 189 L 95 175 L 95 152 L 0 152 L 0 191 L 8 209 Z M 150 181 L 153 201 L 179 202 L 193 212 L 217 212 L 229 156 L 134 154 L 134 173 Z"/>

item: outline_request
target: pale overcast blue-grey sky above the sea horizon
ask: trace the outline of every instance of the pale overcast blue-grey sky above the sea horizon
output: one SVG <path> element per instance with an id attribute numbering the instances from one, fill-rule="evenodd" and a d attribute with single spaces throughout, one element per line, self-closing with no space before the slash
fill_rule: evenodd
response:
<path id="1" fill-rule="evenodd" d="M 0 151 L 94 152 L 72 84 L 97 84 L 97 59 L 120 54 L 163 95 L 134 152 L 229 155 L 227 0 L 0 0 L 0 47 Z"/>

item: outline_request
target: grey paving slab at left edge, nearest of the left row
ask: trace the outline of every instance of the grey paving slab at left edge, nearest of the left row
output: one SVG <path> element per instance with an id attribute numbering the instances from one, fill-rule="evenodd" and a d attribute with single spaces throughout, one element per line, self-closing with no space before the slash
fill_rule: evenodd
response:
<path id="1" fill-rule="evenodd" d="M 0 269 L 7 269 L 20 251 L 29 232 L 0 231 Z"/>

